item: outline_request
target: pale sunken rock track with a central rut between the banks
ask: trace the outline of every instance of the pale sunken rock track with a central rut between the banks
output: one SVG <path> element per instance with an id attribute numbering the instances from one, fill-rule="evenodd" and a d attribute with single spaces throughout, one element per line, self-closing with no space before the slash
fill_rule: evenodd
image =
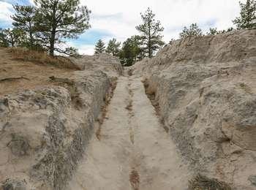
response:
<path id="1" fill-rule="evenodd" d="M 118 79 L 101 138 L 91 139 L 68 190 L 187 189 L 189 170 L 140 80 Z"/>

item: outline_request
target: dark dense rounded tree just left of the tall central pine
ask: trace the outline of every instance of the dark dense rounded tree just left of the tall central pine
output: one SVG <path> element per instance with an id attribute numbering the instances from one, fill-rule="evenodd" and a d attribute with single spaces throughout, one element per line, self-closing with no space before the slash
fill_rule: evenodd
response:
<path id="1" fill-rule="evenodd" d="M 143 50 L 140 48 L 139 39 L 139 36 L 132 36 L 123 43 L 119 58 L 124 66 L 132 66 L 136 61 L 145 57 Z"/>

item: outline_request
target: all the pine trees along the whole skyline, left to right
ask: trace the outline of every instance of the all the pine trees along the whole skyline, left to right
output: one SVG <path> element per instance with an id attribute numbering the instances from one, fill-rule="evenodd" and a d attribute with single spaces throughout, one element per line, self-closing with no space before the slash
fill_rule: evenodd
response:
<path id="1" fill-rule="evenodd" d="M 45 51 L 54 56 L 61 53 L 68 56 L 78 55 L 78 50 L 68 47 L 65 39 L 78 38 L 89 29 L 91 11 L 80 5 L 80 0 L 34 0 L 34 6 L 14 5 L 12 28 L 0 28 L 0 47 L 27 47 L 31 50 Z M 215 35 L 236 29 L 256 28 L 256 2 L 246 0 L 240 2 L 241 12 L 233 20 L 236 28 L 218 31 L 210 28 L 206 35 Z M 130 66 L 142 58 L 152 58 L 165 42 L 162 32 L 164 28 L 159 20 L 155 20 L 154 12 L 147 9 L 141 14 L 142 23 L 136 26 L 139 34 L 129 37 L 125 42 L 111 39 L 108 45 L 100 39 L 95 46 L 95 53 L 109 53 L 120 58 L 121 63 Z M 184 27 L 179 37 L 202 36 L 202 29 L 197 23 Z M 169 44 L 173 42 L 173 39 Z"/>

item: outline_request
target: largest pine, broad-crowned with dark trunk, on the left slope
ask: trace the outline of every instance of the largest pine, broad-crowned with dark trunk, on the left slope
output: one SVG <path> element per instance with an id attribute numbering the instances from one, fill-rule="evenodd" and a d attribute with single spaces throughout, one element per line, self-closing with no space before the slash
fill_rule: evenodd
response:
<path id="1" fill-rule="evenodd" d="M 54 51 L 69 53 L 62 50 L 63 39 L 77 38 L 90 28 L 89 15 L 91 11 L 86 6 L 80 6 L 79 0 L 34 0 L 37 12 L 35 16 L 37 37 L 41 39 L 50 55 Z"/>

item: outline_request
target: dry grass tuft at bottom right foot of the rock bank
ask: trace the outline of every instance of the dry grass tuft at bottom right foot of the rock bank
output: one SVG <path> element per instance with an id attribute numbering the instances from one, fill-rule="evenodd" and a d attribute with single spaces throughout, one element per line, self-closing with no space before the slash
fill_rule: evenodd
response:
<path id="1" fill-rule="evenodd" d="M 225 182 L 199 174 L 189 181 L 189 190 L 231 190 L 231 187 Z"/>

